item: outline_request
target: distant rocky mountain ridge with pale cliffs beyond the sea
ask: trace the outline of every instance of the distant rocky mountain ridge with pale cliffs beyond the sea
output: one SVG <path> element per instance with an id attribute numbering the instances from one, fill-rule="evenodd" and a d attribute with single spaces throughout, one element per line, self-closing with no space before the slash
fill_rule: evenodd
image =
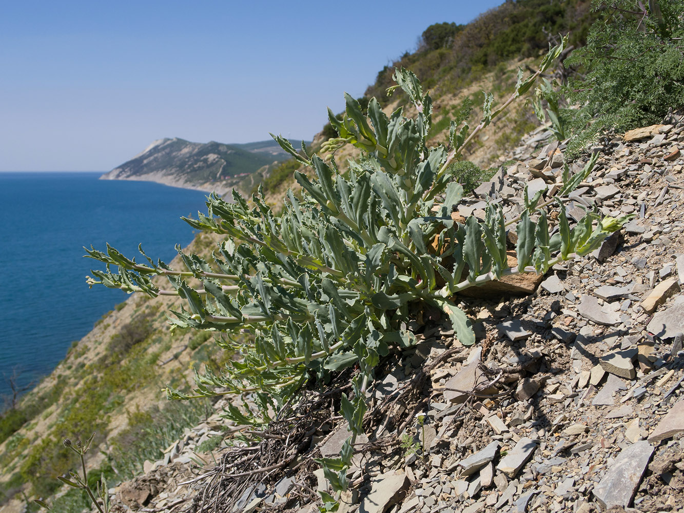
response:
<path id="1" fill-rule="evenodd" d="M 224 144 L 173 137 L 153 142 L 100 179 L 152 181 L 224 194 L 263 166 L 288 157 L 275 141 Z"/>

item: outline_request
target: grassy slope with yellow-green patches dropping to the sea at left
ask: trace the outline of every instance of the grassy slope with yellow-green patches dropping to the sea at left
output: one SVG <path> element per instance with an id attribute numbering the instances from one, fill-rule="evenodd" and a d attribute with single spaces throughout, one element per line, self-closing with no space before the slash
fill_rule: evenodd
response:
<path id="1" fill-rule="evenodd" d="M 200 234 L 187 250 L 207 254 L 214 241 Z M 176 259 L 172 266 L 179 263 Z M 159 286 L 170 288 L 161 285 L 165 281 Z M 209 334 L 171 334 L 166 311 L 174 305 L 179 306 L 178 298 L 131 296 L 103 315 L 53 373 L 21 399 L 18 412 L 25 423 L 0 443 L 0 505 L 22 488 L 42 497 L 55 492 L 55 477 L 75 469 L 64 438 L 85 440 L 96 433 L 88 464 L 98 471 L 92 475 L 103 471 L 117 480 L 140 471 L 146 458 L 161 458 L 158 449 L 204 415 L 204 403 L 170 403 L 161 389 L 166 384 L 189 388 L 194 367 L 218 368 L 226 356 L 205 343 Z"/>

